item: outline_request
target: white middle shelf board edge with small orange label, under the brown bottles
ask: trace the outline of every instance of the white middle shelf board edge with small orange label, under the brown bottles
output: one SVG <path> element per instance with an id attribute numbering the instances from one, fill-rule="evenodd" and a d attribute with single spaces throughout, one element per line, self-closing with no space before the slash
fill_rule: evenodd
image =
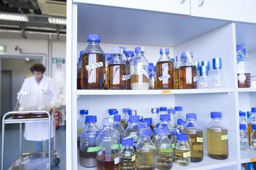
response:
<path id="1" fill-rule="evenodd" d="M 234 92 L 232 88 L 223 89 L 179 89 L 179 90 L 77 90 L 77 95 L 177 95 L 212 94 Z"/>

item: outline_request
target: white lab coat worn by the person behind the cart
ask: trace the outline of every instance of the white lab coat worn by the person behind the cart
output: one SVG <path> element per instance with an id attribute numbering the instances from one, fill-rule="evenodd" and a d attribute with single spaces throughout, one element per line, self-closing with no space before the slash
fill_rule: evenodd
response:
<path id="1" fill-rule="evenodd" d="M 59 101 L 59 91 L 54 84 L 54 81 L 51 78 L 43 76 L 39 84 L 37 83 L 35 77 L 30 77 L 25 79 L 23 82 L 20 91 L 18 92 L 18 98 L 21 95 L 21 91 L 29 90 L 30 91 L 30 102 L 31 105 L 36 106 L 38 101 L 39 92 L 41 90 L 48 90 L 47 98 L 50 101 L 51 108 Z M 22 98 L 21 98 L 22 100 Z M 40 108 L 36 108 L 40 110 Z M 41 108 L 42 109 L 42 108 Z M 53 121 L 51 123 L 51 138 L 53 137 Z M 44 141 L 49 139 L 49 122 L 39 122 L 39 123 L 25 123 L 25 133 L 24 137 L 26 140 L 31 141 Z"/>

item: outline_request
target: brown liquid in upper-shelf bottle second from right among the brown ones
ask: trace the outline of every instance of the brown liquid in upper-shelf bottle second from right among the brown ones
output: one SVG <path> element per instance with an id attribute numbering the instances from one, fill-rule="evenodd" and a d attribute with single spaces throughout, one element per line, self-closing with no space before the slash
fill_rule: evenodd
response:
<path id="1" fill-rule="evenodd" d="M 168 74 L 170 78 L 166 78 Z M 157 62 L 156 75 L 158 89 L 173 89 L 173 62 Z M 163 80 L 160 81 L 159 78 L 163 78 Z"/>

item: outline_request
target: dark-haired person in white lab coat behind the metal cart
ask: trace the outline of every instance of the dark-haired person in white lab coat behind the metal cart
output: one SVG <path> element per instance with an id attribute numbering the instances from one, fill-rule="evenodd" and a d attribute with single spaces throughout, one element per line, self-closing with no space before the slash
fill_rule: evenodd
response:
<path id="1" fill-rule="evenodd" d="M 18 92 L 18 99 L 20 98 L 22 91 L 27 90 L 29 91 L 29 103 L 30 106 L 33 106 L 35 110 L 47 110 L 46 108 L 53 108 L 59 102 L 59 91 L 53 81 L 53 79 L 46 77 L 45 73 L 45 66 L 43 64 L 34 64 L 30 67 L 30 71 L 32 72 L 33 76 L 26 78 L 21 86 L 20 91 Z M 46 99 L 49 101 L 49 106 L 43 106 L 40 103 L 40 95 L 42 91 L 46 91 Z M 22 102 L 22 97 L 20 99 Z M 41 102 L 42 103 L 42 102 Z M 44 103 L 44 105 L 46 105 Z M 26 108 L 19 108 L 20 111 Z M 53 120 L 51 124 L 51 138 L 53 138 Z M 55 134 L 54 134 L 55 135 Z M 35 148 L 37 152 L 43 151 L 43 141 L 46 142 L 46 147 L 48 148 L 49 142 L 49 123 L 48 122 L 32 122 L 25 124 L 25 133 L 24 137 L 26 140 L 34 141 Z M 51 140 L 52 146 L 53 140 Z"/>

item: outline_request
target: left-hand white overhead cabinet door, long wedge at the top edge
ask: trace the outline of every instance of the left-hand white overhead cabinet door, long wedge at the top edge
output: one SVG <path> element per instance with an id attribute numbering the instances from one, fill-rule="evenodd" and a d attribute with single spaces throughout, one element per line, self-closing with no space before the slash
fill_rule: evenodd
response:
<path id="1" fill-rule="evenodd" d="M 190 15 L 190 0 L 73 0 L 73 2 Z"/>

